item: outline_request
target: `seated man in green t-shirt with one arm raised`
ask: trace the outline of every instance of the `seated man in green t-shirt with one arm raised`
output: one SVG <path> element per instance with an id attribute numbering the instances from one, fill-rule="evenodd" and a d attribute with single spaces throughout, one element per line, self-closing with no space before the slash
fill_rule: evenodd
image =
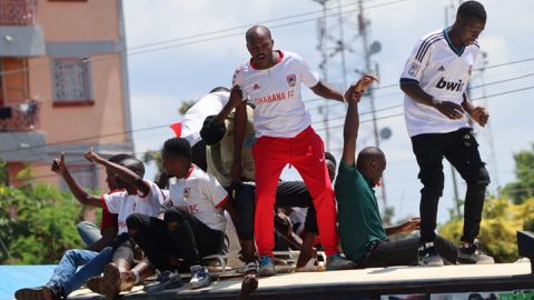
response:
<path id="1" fill-rule="evenodd" d="M 359 127 L 358 101 L 376 78 L 364 76 L 356 83 L 357 96 L 349 102 L 344 128 L 343 157 L 335 183 L 338 206 L 339 238 L 345 256 L 359 268 L 417 264 L 419 239 L 387 240 L 387 236 L 418 229 L 419 219 L 384 229 L 373 188 L 386 169 L 380 149 L 362 150 L 355 166 L 356 139 Z M 457 248 L 438 238 L 437 250 L 449 262 L 456 262 Z"/>

